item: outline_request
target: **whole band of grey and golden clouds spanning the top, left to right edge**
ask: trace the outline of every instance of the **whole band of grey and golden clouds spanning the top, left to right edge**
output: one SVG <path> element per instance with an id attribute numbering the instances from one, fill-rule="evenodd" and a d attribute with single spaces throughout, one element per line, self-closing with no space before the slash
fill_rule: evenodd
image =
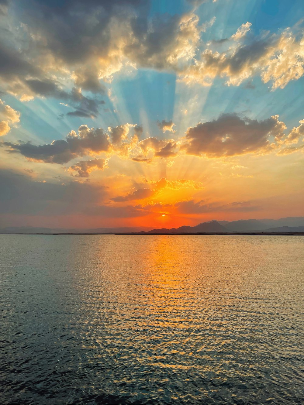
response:
<path id="1" fill-rule="evenodd" d="M 16 7 L 9 13 L 0 45 L 1 87 L 23 101 L 39 96 L 69 103 L 72 117 L 96 117 L 104 82 L 137 68 L 175 72 L 186 83 L 202 85 L 217 76 L 240 85 L 259 74 L 273 89 L 304 74 L 304 40 L 289 29 L 247 38 L 247 21 L 220 40 L 227 49 L 219 53 L 210 48 L 219 41 L 206 46 L 201 40 L 215 17 L 205 23 L 193 12 L 150 17 L 149 2 L 131 0 L 33 4 L 22 14 Z"/>

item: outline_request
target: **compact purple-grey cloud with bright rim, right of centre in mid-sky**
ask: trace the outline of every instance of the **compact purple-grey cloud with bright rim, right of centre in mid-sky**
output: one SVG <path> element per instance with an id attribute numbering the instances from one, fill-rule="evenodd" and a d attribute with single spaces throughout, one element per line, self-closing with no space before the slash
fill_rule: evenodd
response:
<path id="1" fill-rule="evenodd" d="M 281 139 L 286 126 L 278 115 L 257 121 L 241 119 L 235 114 L 223 114 L 218 119 L 199 123 L 186 131 L 181 149 L 187 154 L 209 158 L 242 155 L 251 152 L 269 152 L 274 145 L 270 136 Z"/>

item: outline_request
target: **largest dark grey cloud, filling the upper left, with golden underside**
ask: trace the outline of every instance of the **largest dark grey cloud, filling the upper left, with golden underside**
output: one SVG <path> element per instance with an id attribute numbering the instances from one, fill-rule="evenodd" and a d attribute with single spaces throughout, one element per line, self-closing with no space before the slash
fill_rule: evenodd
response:
<path id="1" fill-rule="evenodd" d="M 53 7 L 35 1 L 22 15 L 14 10 L 0 49 L 4 88 L 22 100 L 58 98 L 63 79 L 98 96 L 106 90 L 103 81 L 121 70 L 178 69 L 193 58 L 201 32 L 212 22 L 199 25 L 193 13 L 149 17 L 148 3 L 90 1 L 84 6 L 75 0 Z"/>

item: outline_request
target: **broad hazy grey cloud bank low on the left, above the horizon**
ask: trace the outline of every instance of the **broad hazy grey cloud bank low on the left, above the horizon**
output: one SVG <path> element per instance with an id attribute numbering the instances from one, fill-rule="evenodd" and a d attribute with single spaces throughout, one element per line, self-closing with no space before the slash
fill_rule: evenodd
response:
<path id="1" fill-rule="evenodd" d="M 75 227 L 75 215 L 76 218 L 96 216 L 100 219 L 138 217 L 150 213 L 140 206 L 102 204 L 105 198 L 107 188 L 100 184 L 35 181 L 28 175 L 0 169 L 0 215 L 6 218 L 16 216 L 21 225 L 33 223 L 33 216 L 45 221 L 57 215 L 74 215 Z"/>

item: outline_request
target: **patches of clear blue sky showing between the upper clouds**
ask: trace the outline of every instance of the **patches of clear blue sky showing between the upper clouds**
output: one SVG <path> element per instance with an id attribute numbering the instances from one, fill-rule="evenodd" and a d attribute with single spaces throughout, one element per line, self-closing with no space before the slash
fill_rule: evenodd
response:
<path id="1" fill-rule="evenodd" d="M 150 16 L 164 13 L 182 14 L 190 10 L 191 5 L 186 1 L 152 1 Z M 303 26 L 300 17 L 304 15 L 304 3 L 285 0 L 218 0 L 201 4 L 195 9 L 195 13 L 202 22 L 216 16 L 208 32 L 202 33 L 202 39 L 207 42 L 214 38 L 231 36 L 236 28 L 246 21 L 253 24 L 251 30 L 256 35 L 261 30 L 279 32 L 296 24 Z M 262 83 L 259 76 L 250 78 L 238 87 L 227 86 L 225 78 L 218 78 L 211 88 L 200 89 L 197 89 L 197 86 L 189 89 L 180 83 L 177 84 L 176 79 L 175 73 L 151 69 L 131 69 L 127 75 L 118 73 L 107 87 L 113 90 L 113 94 L 118 95 L 116 106 L 120 114 L 113 112 L 115 106 L 105 94 L 101 99 L 105 100 L 106 111 L 101 111 L 98 119 L 86 119 L 86 123 L 95 127 L 120 125 L 124 123 L 124 119 L 138 123 L 142 122 L 144 111 L 144 119 L 148 120 L 152 136 L 159 136 L 156 121 L 173 119 L 174 105 L 186 104 L 188 99 L 196 95 L 200 104 L 196 114 L 198 120 L 208 121 L 221 113 L 231 112 L 265 119 L 274 107 L 276 113 L 289 126 L 301 119 L 304 103 L 303 77 L 278 90 L 279 95 L 270 91 L 269 85 Z M 248 83 L 254 88 L 246 88 Z M 6 96 L 6 100 L 8 104 L 14 103 L 16 109 L 22 113 L 24 134 L 21 139 L 24 141 L 27 140 L 28 134 L 39 134 L 39 139 L 45 142 L 61 139 L 66 131 L 83 124 L 83 118 L 79 117 L 58 119 L 60 113 L 66 113 L 66 107 L 60 105 L 58 100 L 35 99 L 28 104 L 18 102 L 11 96 Z M 296 100 L 296 103 L 293 100 Z M 35 114 L 32 113 L 33 110 Z M 15 134 L 12 130 L 12 135 L 20 139 L 20 129 L 15 131 Z"/>

